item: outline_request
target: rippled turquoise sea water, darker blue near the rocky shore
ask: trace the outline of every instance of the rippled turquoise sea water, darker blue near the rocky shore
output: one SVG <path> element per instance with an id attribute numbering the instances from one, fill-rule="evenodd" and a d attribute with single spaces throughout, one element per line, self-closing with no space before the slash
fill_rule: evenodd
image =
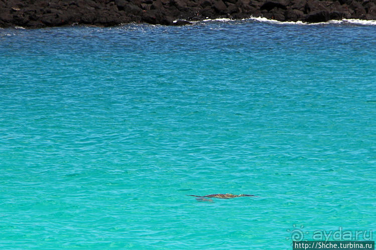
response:
<path id="1" fill-rule="evenodd" d="M 374 240 L 375 167 L 372 23 L 0 29 L 2 249 Z"/>

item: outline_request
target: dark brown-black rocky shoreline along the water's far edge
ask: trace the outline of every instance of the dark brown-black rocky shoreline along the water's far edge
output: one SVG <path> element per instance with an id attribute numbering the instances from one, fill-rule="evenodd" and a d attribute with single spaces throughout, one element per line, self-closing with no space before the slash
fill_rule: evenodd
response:
<path id="1" fill-rule="evenodd" d="M 250 16 L 308 23 L 376 20 L 376 0 L 0 0 L 2 28 L 127 23 L 185 25 L 207 18 Z"/>

